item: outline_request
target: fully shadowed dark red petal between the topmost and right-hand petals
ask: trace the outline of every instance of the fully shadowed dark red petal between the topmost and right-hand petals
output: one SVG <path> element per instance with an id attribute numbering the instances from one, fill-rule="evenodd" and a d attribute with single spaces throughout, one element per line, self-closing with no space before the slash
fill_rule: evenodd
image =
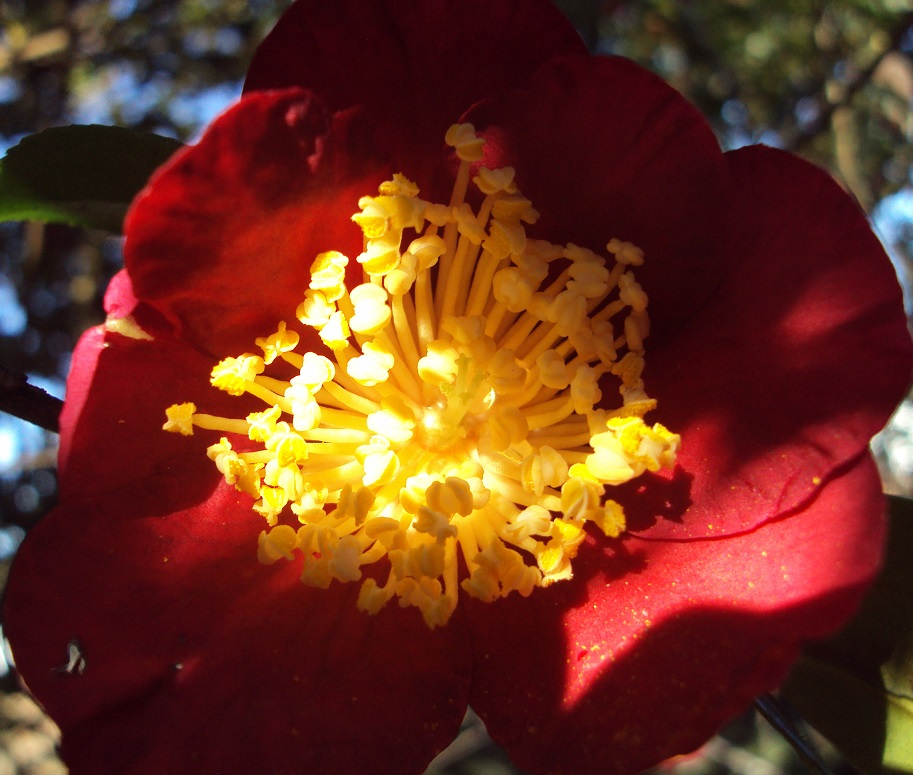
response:
<path id="1" fill-rule="evenodd" d="M 713 289 L 720 257 L 706 247 L 719 230 L 725 163 L 697 109 L 657 76 L 617 57 L 562 58 L 467 119 L 487 140 L 483 163 L 515 167 L 542 213 L 531 234 L 645 251 L 637 279 L 654 326 Z"/>

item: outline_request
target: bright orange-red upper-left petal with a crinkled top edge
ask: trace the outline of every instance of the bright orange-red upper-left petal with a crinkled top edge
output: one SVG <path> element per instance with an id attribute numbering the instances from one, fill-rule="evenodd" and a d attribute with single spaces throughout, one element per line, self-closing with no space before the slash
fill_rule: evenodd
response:
<path id="1" fill-rule="evenodd" d="M 137 297 L 201 350 L 250 350 L 294 316 L 319 252 L 361 251 L 350 218 L 389 175 L 369 134 L 301 90 L 242 100 L 134 203 L 125 262 Z"/>

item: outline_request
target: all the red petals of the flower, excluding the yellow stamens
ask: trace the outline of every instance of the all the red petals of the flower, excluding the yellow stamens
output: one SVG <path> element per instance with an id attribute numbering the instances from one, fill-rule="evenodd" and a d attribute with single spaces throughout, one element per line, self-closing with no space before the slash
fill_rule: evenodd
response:
<path id="1" fill-rule="evenodd" d="M 350 216 L 392 173 L 448 201 L 457 121 L 481 164 L 516 170 L 531 237 L 643 249 L 646 390 L 682 447 L 673 472 L 608 488 L 627 532 L 588 530 L 572 579 L 460 592 L 430 629 L 409 607 L 358 610 L 358 584 L 302 585 L 300 554 L 258 563 L 263 517 L 204 454 L 221 434 L 161 424 L 178 402 L 263 408 L 214 390 L 214 362 L 291 319 L 316 255 L 363 250 Z M 587 56 L 549 3 L 299 0 L 247 95 L 138 198 L 126 265 L 74 354 L 61 505 L 7 589 L 17 666 L 74 773 L 419 772 L 467 704 L 525 769 L 636 771 L 776 686 L 878 568 L 867 443 L 911 346 L 862 213 L 785 153 L 720 153 L 688 103 Z M 637 375 L 622 382 L 636 403 Z"/>

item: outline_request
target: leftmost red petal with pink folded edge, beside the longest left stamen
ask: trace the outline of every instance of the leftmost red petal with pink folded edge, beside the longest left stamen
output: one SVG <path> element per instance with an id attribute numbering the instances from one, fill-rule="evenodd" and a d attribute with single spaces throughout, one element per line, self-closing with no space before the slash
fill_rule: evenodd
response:
<path id="1" fill-rule="evenodd" d="M 167 490 L 152 502 L 157 513 L 203 499 L 218 475 L 199 444 L 164 432 L 162 425 L 165 409 L 185 401 L 226 417 L 252 410 L 248 402 L 210 386 L 212 366 L 208 356 L 160 332 L 147 341 L 106 332 L 104 326 L 87 331 L 73 353 L 61 415 L 62 498 L 123 491 L 165 476 Z M 190 471 L 185 480 L 167 478 L 184 469 Z"/>

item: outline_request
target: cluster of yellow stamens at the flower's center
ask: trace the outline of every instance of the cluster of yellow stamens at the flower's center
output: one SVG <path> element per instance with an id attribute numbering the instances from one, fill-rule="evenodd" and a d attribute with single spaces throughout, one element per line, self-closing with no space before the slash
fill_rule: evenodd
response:
<path id="1" fill-rule="evenodd" d="M 644 415 L 647 297 L 631 267 L 643 253 L 613 239 L 612 261 L 574 244 L 528 239 L 538 213 L 511 168 L 481 167 L 469 124 L 447 143 L 461 160 L 448 204 L 422 200 L 401 175 L 366 196 L 363 281 L 321 253 L 297 310 L 327 355 L 296 352 L 280 323 L 263 355 L 226 358 L 212 384 L 266 408 L 245 419 L 193 404 L 168 408 L 165 430 L 240 434 L 208 456 L 266 521 L 263 563 L 303 558 L 302 582 L 361 581 L 358 607 L 393 597 L 444 624 L 462 589 L 484 601 L 570 578 L 592 522 L 625 529 L 606 488 L 671 468 L 679 437 Z M 277 359 L 289 381 L 267 376 Z M 620 401 L 600 408 L 614 380 Z M 246 446 L 246 445 L 245 445 Z M 462 566 L 462 567 L 461 567 Z"/>

